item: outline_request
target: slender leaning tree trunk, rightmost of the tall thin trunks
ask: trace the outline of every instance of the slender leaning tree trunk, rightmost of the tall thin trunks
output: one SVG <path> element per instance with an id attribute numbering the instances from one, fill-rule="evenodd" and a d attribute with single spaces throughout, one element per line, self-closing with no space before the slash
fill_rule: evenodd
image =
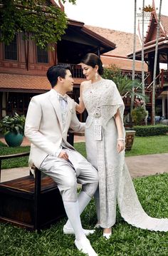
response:
<path id="1" fill-rule="evenodd" d="M 159 29 L 160 29 L 160 17 L 162 9 L 162 0 L 159 3 L 159 16 L 157 21 L 157 38 L 154 54 L 154 73 L 153 73 L 153 88 L 152 88 L 152 125 L 155 125 L 155 97 L 156 97 L 156 73 L 157 73 L 157 53 L 158 53 L 158 41 L 159 41 Z"/>

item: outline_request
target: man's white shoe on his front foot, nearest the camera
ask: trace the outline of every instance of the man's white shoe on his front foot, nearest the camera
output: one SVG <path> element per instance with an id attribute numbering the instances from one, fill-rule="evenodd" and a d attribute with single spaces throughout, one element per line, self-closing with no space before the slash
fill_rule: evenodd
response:
<path id="1" fill-rule="evenodd" d="M 93 247 L 90 245 L 90 242 L 87 238 L 83 238 L 80 240 L 75 239 L 75 246 L 78 248 L 78 250 L 84 252 L 88 256 L 98 256 Z"/>

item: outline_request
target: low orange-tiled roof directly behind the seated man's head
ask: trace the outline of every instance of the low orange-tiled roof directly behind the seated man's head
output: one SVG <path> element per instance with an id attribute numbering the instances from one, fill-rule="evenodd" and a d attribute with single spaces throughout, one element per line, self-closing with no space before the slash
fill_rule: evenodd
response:
<path id="1" fill-rule="evenodd" d="M 74 87 L 83 81 L 83 78 L 74 78 Z M 51 85 L 46 76 L 28 76 L 9 73 L 0 73 L 0 91 L 44 92 L 49 91 Z"/>

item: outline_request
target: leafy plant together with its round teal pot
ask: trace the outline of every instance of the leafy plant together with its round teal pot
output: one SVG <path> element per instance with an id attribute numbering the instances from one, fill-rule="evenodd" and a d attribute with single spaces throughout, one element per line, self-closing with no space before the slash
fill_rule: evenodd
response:
<path id="1" fill-rule="evenodd" d="M 5 116 L 0 121 L 0 130 L 4 134 L 4 138 L 9 147 L 17 147 L 21 145 L 24 134 L 25 116 Z"/>

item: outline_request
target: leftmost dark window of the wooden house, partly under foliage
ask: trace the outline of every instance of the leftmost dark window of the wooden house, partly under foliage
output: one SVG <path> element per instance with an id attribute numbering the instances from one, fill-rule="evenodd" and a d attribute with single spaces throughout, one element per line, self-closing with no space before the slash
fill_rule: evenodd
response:
<path id="1" fill-rule="evenodd" d="M 4 45 L 5 51 L 5 59 L 17 61 L 18 53 L 17 53 L 17 37 L 14 36 L 14 40 L 11 41 L 9 46 Z"/>

